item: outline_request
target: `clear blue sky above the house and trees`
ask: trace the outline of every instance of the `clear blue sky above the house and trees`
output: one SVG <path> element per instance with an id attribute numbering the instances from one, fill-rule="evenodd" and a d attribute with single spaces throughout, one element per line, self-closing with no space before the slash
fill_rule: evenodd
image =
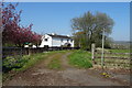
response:
<path id="1" fill-rule="evenodd" d="M 62 35 L 72 35 L 73 18 L 78 18 L 88 11 L 107 13 L 114 21 L 110 37 L 114 41 L 130 40 L 129 2 L 20 2 L 16 9 L 23 10 L 22 25 L 33 23 L 34 32 Z"/>

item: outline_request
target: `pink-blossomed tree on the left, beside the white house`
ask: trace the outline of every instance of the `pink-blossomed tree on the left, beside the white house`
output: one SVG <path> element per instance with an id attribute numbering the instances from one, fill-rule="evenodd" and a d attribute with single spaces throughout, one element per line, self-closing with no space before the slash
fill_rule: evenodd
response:
<path id="1" fill-rule="evenodd" d="M 3 44 L 13 44 L 15 46 L 23 46 L 25 43 L 36 44 L 41 41 L 41 35 L 31 31 L 33 24 L 28 28 L 20 25 L 22 10 L 16 11 L 16 6 L 18 3 L 7 6 L 2 3 Z"/>

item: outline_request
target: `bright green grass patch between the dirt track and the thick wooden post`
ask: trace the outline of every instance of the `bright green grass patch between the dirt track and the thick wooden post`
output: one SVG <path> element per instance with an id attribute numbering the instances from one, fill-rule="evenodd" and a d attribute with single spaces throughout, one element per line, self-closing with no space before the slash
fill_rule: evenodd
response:
<path id="1" fill-rule="evenodd" d="M 68 62 L 78 68 L 90 68 L 92 67 L 90 56 L 91 54 L 86 51 L 75 51 L 68 56 Z"/>

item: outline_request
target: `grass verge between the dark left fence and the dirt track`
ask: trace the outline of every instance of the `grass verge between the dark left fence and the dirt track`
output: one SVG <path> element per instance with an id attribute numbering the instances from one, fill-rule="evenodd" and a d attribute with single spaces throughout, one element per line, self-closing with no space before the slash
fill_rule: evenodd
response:
<path id="1" fill-rule="evenodd" d="M 10 70 L 2 73 L 2 81 L 11 79 L 15 74 L 20 72 L 24 72 L 28 68 L 32 67 L 33 65 L 37 64 L 38 62 L 46 59 L 48 56 L 52 54 L 57 53 L 55 52 L 47 52 L 47 53 L 37 53 L 37 54 L 32 54 L 32 55 L 24 55 L 20 58 L 11 57 L 8 61 L 4 61 L 6 63 L 3 66 L 6 68 L 9 68 Z M 18 62 L 19 59 L 19 62 Z"/>

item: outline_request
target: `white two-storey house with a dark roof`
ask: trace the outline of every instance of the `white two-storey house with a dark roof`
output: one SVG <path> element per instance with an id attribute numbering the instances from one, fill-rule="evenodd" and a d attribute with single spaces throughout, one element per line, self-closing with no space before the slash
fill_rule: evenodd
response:
<path id="1" fill-rule="evenodd" d="M 68 35 L 45 34 L 42 36 L 42 43 L 40 47 L 52 46 L 70 46 L 74 47 L 74 40 Z"/>

